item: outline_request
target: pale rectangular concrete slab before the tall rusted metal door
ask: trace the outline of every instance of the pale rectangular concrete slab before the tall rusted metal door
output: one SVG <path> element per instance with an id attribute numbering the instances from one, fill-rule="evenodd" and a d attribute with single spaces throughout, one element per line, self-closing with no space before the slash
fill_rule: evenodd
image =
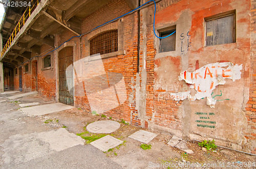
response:
<path id="1" fill-rule="evenodd" d="M 39 115 L 46 115 L 52 112 L 62 111 L 74 108 L 74 106 L 62 104 L 62 103 L 53 103 L 53 104 L 45 104 L 45 105 L 38 105 L 33 107 L 23 107 L 19 110 L 22 110 L 28 115 L 31 116 L 39 116 Z"/>

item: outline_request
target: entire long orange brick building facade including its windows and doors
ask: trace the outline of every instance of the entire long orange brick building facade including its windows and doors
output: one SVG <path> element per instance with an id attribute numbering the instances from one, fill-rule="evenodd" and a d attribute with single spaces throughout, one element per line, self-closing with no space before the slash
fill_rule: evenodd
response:
<path id="1" fill-rule="evenodd" d="M 41 8 L 51 14 L 57 3 L 42 1 Z M 87 112 L 255 153 L 255 1 L 157 1 L 155 25 L 151 1 L 93 30 L 135 8 L 124 0 L 104 3 L 80 16 L 79 34 L 75 20 L 65 24 L 55 10 L 51 16 L 68 28 L 56 26 L 54 46 L 41 44 L 39 54 L 15 65 L 14 90 L 22 85 Z M 157 36 L 173 34 L 159 39 L 154 26 Z"/>

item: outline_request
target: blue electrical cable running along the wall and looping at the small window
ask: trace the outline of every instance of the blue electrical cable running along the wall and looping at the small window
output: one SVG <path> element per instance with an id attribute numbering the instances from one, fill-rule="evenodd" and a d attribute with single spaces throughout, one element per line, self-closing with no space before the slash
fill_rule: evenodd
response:
<path id="1" fill-rule="evenodd" d="M 164 39 L 164 38 L 167 38 L 167 37 L 173 35 L 176 31 L 174 31 L 172 34 L 169 34 L 169 35 L 167 35 L 167 36 L 165 36 L 165 37 L 159 37 L 159 36 L 157 36 L 156 31 L 155 31 L 156 2 L 155 2 L 155 0 L 151 0 L 151 1 L 148 1 L 148 2 L 146 2 L 146 3 L 144 3 L 144 4 L 142 4 L 141 6 L 139 6 L 138 8 L 135 8 L 134 10 L 132 10 L 132 11 L 130 11 L 130 12 L 127 12 L 127 13 L 125 13 L 125 14 L 123 14 L 123 15 L 121 15 L 121 16 L 115 18 L 115 19 L 112 19 L 112 20 L 110 20 L 110 21 L 108 21 L 108 22 L 105 22 L 105 23 L 103 23 L 103 24 L 101 24 L 101 25 L 95 27 L 94 29 L 92 29 L 91 31 L 89 31 L 89 32 L 87 32 L 87 33 L 83 33 L 83 34 L 81 34 L 81 35 L 79 35 L 79 36 L 73 36 L 73 37 L 71 37 L 69 40 L 67 40 L 67 41 L 65 41 L 65 42 L 63 42 L 63 43 L 61 43 L 58 47 L 56 47 L 56 48 L 53 49 L 52 51 L 49 51 L 47 54 L 40 55 L 40 54 L 41 54 L 41 53 L 40 53 L 39 55 L 36 55 L 35 57 L 32 57 L 30 60 L 23 62 L 21 65 L 25 64 L 26 62 L 31 61 L 33 58 L 45 57 L 45 56 L 48 55 L 49 53 L 51 53 L 51 52 L 57 50 L 60 46 L 62 46 L 62 45 L 65 44 L 66 42 L 69 42 L 71 39 L 76 38 L 76 37 L 81 38 L 83 35 L 86 35 L 86 34 L 92 32 L 92 31 L 98 29 L 99 27 L 102 27 L 102 26 L 104 26 L 104 25 L 106 25 L 106 24 L 108 24 L 108 23 L 111 23 L 111 22 L 113 22 L 113 21 L 115 21 L 115 20 L 117 20 L 117 19 L 119 19 L 119 18 L 121 18 L 121 17 L 124 17 L 124 16 L 126 16 L 126 15 L 129 15 L 129 14 L 131 14 L 132 12 L 138 10 L 139 8 L 141 8 L 141 7 L 143 7 L 143 6 L 145 6 L 146 4 L 151 3 L 151 2 L 154 2 L 154 6 L 155 6 L 154 22 L 153 22 L 153 30 L 154 30 L 155 36 L 156 36 L 157 38 L 159 38 L 159 39 Z M 48 50 L 47 50 L 47 51 L 48 51 Z M 45 52 L 46 52 L 46 51 L 44 51 L 44 52 L 42 52 L 42 53 L 45 53 Z"/>

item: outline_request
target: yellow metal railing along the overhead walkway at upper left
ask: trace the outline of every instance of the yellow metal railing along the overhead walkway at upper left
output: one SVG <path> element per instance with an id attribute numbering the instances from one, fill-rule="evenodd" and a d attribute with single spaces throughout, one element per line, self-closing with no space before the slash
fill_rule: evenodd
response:
<path id="1" fill-rule="evenodd" d="M 25 25 L 25 22 L 28 20 L 28 18 L 30 17 L 31 13 L 35 10 L 35 8 L 38 6 L 39 3 L 40 3 L 40 0 L 31 0 L 30 6 L 27 7 L 27 9 L 23 13 L 22 17 L 20 17 L 20 19 L 19 19 L 17 25 L 15 26 L 15 28 L 14 28 L 10 38 L 6 42 L 5 47 L 3 48 L 2 52 L 1 52 L 1 58 L 3 57 L 3 55 L 6 52 L 6 50 L 11 45 L 13 39 L 19 33 L 20 29 L 22 29 L 22 27 Z"/>

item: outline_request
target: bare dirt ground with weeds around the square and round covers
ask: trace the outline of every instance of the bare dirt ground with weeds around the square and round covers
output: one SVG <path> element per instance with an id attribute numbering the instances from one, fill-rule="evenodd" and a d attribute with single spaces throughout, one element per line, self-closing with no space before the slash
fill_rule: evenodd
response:
<path id="1" fill-rule="evenodd" d="M 34 117 L 31 117 L 34 119 Z M 81 109 L 73 108 L 38 116 L 39 123 L 51 128 L 66 127 L 72 133 L 84 133 L 84 136 L 95 135 L 86 130 L 92 122 L 109 120 L 109 118 L 92 115 Z M 113 119 L 112 119 L 113 120 Z M 187 142 L 193 154 L 187 154 L 175 147 L 167 145 L 172 135 L 120 123 L 120 128 L 110 135 L 124 143 L 105 155 L 125 168 L 256 168 L 256 156 L 237 151 L 217 148 L 216 151 L 203 151 L 198 143 Z M 142 143 L 128 136 L 138 130 L 154 132 L 157 135 L 149 144 L 150 150 L 140 148 Z"/>

